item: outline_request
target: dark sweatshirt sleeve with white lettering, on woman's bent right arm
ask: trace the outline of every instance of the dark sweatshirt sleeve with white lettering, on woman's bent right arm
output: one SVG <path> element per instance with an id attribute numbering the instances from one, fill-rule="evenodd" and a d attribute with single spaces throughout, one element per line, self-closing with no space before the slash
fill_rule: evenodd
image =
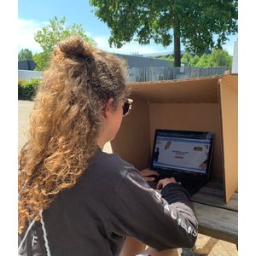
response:
<path id="1" fill-rule="evenodd" d="M 183 186 L 171 183 L 161 194 L 130 168 L 111 206 L 108 232 L 136 237 L 158 251 L 193 247 L 198 222 Z"/>

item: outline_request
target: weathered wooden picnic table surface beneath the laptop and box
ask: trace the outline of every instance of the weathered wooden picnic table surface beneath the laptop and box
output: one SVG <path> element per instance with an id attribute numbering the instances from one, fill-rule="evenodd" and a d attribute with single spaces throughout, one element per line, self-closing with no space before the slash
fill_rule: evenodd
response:
<path id="1" fill-rule="evenodd" d="M 191 197 L 199 222 L 199 233 L 238 244 L 238 192 L 224 202 L 223 184 L 211 179 Z"/>

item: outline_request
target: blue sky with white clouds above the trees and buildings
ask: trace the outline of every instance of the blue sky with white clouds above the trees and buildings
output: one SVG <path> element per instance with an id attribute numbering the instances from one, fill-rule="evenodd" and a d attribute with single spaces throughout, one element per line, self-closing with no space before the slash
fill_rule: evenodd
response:
<path id="1" fill-rule="evenodd" d="M 41 52 L 40 46 L 34 41 L 34 34 L 56 16 L 59 20 L 65 16 L 67 25 L 81 24 L 88 36 L 96 40 L 97 47 L 109 52 L 120 54 L 151 54 L 156 52 L 170 52 L 173 44 L 167 48 L 160 44 L 139 45 L 137 42 L 125 44 L 120 49 L 110 48 L 108 26 L 98 20 L 92 12 L 88 0 L 19 0 L 18 2 L 18 50 L 30 49 L 32 53 Z M 230 36 L 223 46 L 233 55 L 234 41 L 237 35 Z M 183 49 L 183 47 L 182 47 Z"/>

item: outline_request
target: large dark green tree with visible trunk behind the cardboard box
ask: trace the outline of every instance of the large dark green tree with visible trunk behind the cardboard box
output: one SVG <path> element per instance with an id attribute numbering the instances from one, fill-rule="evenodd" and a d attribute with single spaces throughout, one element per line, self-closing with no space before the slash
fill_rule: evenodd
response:
<path id="1" fill-rule="evenodd" d="M 95 15 L 111 29 L 110 46 L 120 48 L 134 37 L 139 44 L 167 47 L 174 41 L 174 66 L 180 66 L 180 44 L 201 54 L 221 48 L 238 30 L 238 0 L 90 0 Z M 173 32 L 173 35 L 172 33 Z M 218 36 L 217 41 L 213 35 Z"/>

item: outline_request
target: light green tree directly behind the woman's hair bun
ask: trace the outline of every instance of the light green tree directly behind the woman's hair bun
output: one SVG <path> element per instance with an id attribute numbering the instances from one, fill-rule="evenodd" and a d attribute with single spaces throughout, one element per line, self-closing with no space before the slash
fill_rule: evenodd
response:
<path id="1" fill-rule="evenodd" d="M 62 39 L 70 36 L 80 36 L 90 44 L 96 45 L 96 42 L 86 35 L 81 25 L 73 24 L 71 26 L 67 26 L 66 21 L 67 19 L 65 16 L 62 17 L 61 20 L 58 20 L 55 16 L 54 19 L 49 20 L 49 25 L 44 26 L 35 34 L 35 41 L 40 44 L 40 47 L 44 51 L 42 54 L 38 54 L 34 58 L 34 61 L 37 63 L 37 70 L 44 70 L 45 67 L 47 67 L 49 57 L 52 54 L 55 45 L 57 45 Z"/>

